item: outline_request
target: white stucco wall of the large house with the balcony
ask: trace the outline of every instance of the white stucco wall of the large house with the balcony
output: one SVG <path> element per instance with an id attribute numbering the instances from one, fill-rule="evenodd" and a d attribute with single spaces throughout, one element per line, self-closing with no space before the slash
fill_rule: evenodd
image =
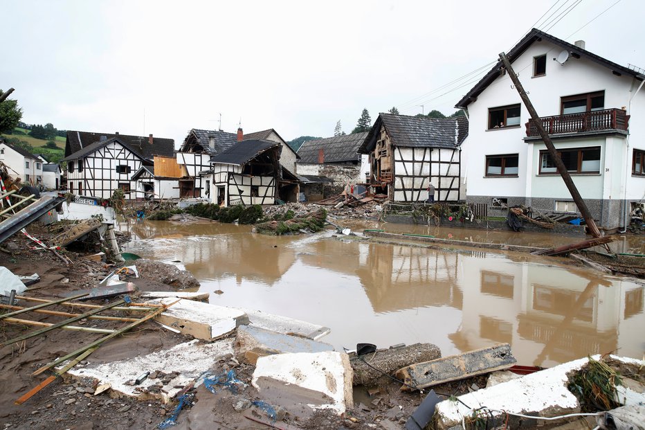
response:
<path id="1" fill-rule="evenodd" d="M 593 51 L 592 46 L 588 48 Z M 641 91 L 630 103 L 635 88 L 633 79 L 613 75 L 612 71 L 583 58 L 570 59 L 561 66 L 553 60 L 562 49 L 548 42 L 536 42 L 523 55 L 514 61 L 513 67 L 518 78 L 531 98 L 538 115 L 553 116 L 560 114 L 561 97 L 581 93 L 604 91 L 604 108 L 620 109 L 626 107 L 632 115 L 629 123 L 630 137 L 576 138 L 567 141 L 556 140 L 556 148 L 585 147 L 601 145 L 601 172 L 595 177 L 574 175 L 574 182 L 580 186 L 583 197 L 592 199 L 617 199 L 617 194 L 628 198 L 641 198 L 645 190 L 645 178 L 632 177 L 631 154 L 633 147 L 645 147 L 642 138 L 645 125 L 639 121 L 638 114 L 645 114 L 645 91 Z M 533 59 L 547 55 L 546 75 L 532 77 Z M 630 91 L 631 90 L 631 91 Z M 556 183 L 558 177 L 538 177 L 538 150 L 544 145 L 541 141 L 525 143 L 525 123 L 529 118 L 526 107 L 520 105 L 520 127 L 506 127 L 488 130 L 489 108 L 520 103 L 520 96 L 508 75 L 497 78 L 484 90 L 475 102 L 469 105 L 469 136 L 462 145 L 466 192 L 469 196 L 500 197 L 551 197 L 569 198 L 570 194 L 562 184 Z M 630 149 L 627 144 L 630 143 Z M 485 177 L 487 155 L 518 154 L 518 177 Z M 628 174 L 626 174 L 628 172 Z M 611 175 L 608 180 L 607 176 Z"/>

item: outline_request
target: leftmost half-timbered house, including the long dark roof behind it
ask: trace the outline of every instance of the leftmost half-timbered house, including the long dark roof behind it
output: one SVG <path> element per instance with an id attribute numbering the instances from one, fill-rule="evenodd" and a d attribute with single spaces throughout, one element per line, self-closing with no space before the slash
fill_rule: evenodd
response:
<path id="1" fill-rule="evenodd" d="M 136 198 L 134 174 L 152 166 L 155 155 L 174 155 L 174 140 L 91 132 L 67 132 L 65 144 L 67 189 L 75 195 L 109 199 L 121 188 L 126 199 Z"/>

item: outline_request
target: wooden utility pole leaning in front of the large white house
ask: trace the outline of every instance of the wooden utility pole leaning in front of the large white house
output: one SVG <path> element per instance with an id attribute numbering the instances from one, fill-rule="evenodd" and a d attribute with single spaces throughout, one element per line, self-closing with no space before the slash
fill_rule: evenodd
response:
<path id="1" fill-rule="evenodd" d="M 540 117 L 538 116 L 538 113 L 533 107 L 531 100 L 529 100 L 529 96 L 527 96 L 526 91 L 524 91 L 524 87 L 522 87 L 520 80 L 515 74 L 515 71 L 511 66 L 511 62 L 509 62 L 509 59 L 506 57 L 506 54 L 503 52 L 500 53 L 500 58 L 502 59 L 502 63 L 504 64 L 507 72 L 509 73 L 509 77 L 515 84 L 515 88 L 518 90 L 518 93 L 520 93 L 520 98 L 522 98 L 522 101 L 526 105 L 529 111 L 529 114 L 531 114 L 533 123 L 538 129 L 540 136 L 542 136 L 542 140 L 544 141 L 544 144 L 547 146 L 549 155 L 553 159 L 553 162 L 556 165 L 558 172 L 560 173 L 563 181 L 565 182 L 565 185 L 569 189 L 569 192 L 571 193 L 571 197 L 573 197 L 573 201 L 575 201 L 576 206 L 578 206 L 578 209 L 580 210 L 581 215 L 585 219 L 585 223 L 587 223 L 590 233 L 594 236 L 594 238 L 599 238 L 601 234 L 598 227 L 596 226 L 594 217 L 591 216 L 591 213 L 589 212 L 589 209 L 587 208 L 585 201 L 583 200 L 580 193 L 578 192 L 578 188 L 576 188 L 576 184 L 573 183 L 573 180 L 571 179 L 571 175 L 569 174 L 566 166 L 562 162 L 562 159 L 560 158 L 560 154 L 558 154 L 556 147 L 554 147 L 553 142 L 549 137 L 549 134 L 547 134 L 547 132 L 544 129 L 544 126 L 542 125 L 542 123 L 540 123 Z"/>

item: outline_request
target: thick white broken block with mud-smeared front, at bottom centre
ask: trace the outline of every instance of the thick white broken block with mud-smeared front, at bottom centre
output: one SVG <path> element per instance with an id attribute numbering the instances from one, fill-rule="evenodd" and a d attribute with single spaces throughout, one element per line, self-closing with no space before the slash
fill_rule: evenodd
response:
<path id="1" fill-rule="evenodd" d="M 257 359 L 252 384 L 270 404 L 297 416 L 315 409 L 338 413 L 354 407 L 352 366 L 345 352 L 298 352 Z"/>

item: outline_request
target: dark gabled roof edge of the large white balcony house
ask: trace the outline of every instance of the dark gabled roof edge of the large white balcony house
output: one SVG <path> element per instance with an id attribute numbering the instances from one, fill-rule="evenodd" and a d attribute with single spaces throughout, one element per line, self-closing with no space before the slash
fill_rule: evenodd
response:
<path id="1" fill-rule="evenodd" d="M 529 31 L 529 33 L 506 54 L 511 64 L 513 64 L 513 62 L 517 60 L 518 57 L 520 57 L 520 55 L 522 55 L 524 51 L 529 48 L 529 46 L 531 46 L 534 42 L 539 41 L 540 39 L 551 42 L 552 44 L 555 44 L 557 46 L 561 46 L 563 49 L 566 49 L 570 53 L 580 55 L 580 57 L 586 58 L 594 63 L 600 64 L 601 66 L 605 66 L 612 72 L 632 76 L 637 80 L 645 80 L 645 75 L 639 73 L 636 70 L 621 66 L 620 64 L 616 64 L 615 62 L 610 62 L 600 55 L 590 53 L 586 49 L 579 48 L 578 46 L 572 45 L 569 42 L 565 42 L 562 39 L 558 39 L 557 37 L 544 33 L 537 28 L 533 28 L 531 31 Z M 455 105 L 455 107 L 464 109 L 471 102 L 475 101 L 480 93 L 482 93 L 484 89 L 486 89 L 491 83 L 493 83 L 494 80 L 498 78 L 501 69 L 502 62 L 498 61 L 497 64 L 495 64 L 495 66 L 493 66 L 493 68 L 486 75 L 484 75 L 484 78 L 482 78 L 480 82 L 475 84 L 475 87 L 468 91 L 468 93 L 466 93 L 466 96 L 464 96 L 462 100 L 457 102 L 457 105 Z"/>

